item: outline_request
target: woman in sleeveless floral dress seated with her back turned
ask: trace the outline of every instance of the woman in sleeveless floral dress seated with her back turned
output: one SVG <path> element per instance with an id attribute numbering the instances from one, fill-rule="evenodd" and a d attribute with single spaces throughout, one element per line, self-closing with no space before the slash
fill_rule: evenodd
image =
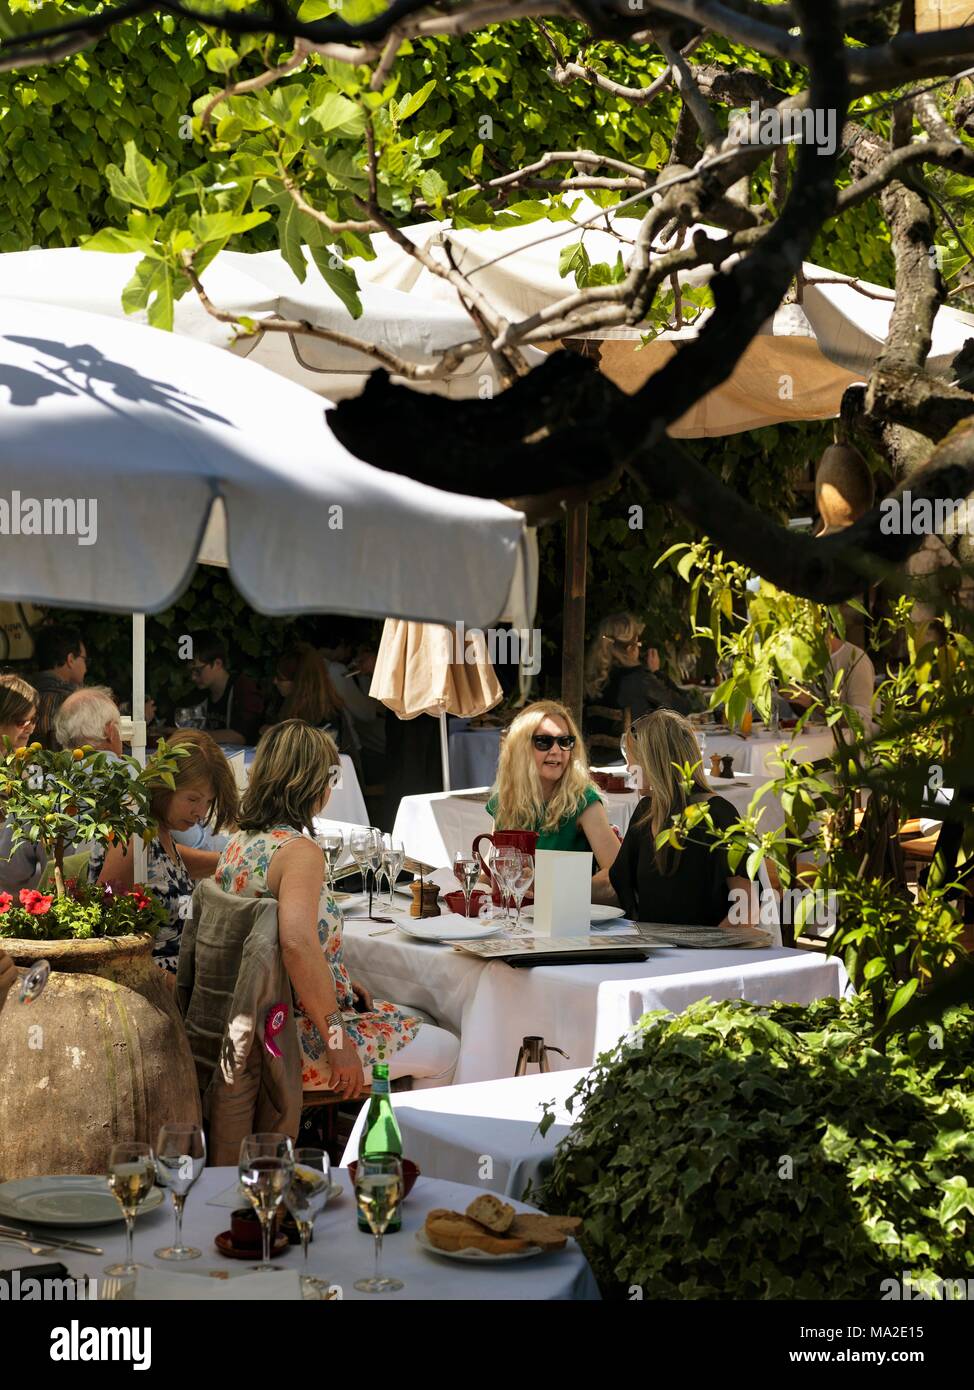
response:
<path id="1" fill-rule="evenodd" d="M 349 977 L 342 913 L 325 887 L 324 855 L 303 834 L 328 802 L 339 753 L 331 737 L 299 719 L 261 739 L 240 808 L 240 828 L 217 865 L 225 892 L 278 899 L 281 951 L 295 991 L 306 1090 L 345 1098 L 367 1084 L 365 1068 L 446 1084 L 457 1041 Z M 415 1080 L 418 1079 L 418 1080 Z"/>

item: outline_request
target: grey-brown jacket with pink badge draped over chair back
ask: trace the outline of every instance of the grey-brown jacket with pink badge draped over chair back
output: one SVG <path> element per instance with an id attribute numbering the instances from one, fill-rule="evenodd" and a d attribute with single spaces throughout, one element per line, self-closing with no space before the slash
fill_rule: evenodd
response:
<path id="1" fill-rule="evenodd" d="M 196 1062 L 210 1163 L 235 1165 L 247 1134 L 296 1138 L 302 1054 L 274 898 L 239 898 L 213 878 L 197 884 L 179 942 L 176 1004 Z M 275 1004 L 288 1006 L 274 1038 L 279 1058 L 264 1047 Z"/>

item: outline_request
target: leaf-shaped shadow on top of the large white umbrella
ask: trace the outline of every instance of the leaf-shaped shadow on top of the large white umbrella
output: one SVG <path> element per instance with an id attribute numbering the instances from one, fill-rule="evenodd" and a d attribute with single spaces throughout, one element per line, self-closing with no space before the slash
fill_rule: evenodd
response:
<path id="1" fill-rule="evenodd" d="M 19 334 L 4 334 L 4 338 L 25 348 L 35 348 L 39 353 L 61 363 L 61 366 L 50 366 L 39 360 L 36 371 L 0 364 L 0 384 L 10 388 L 11 406 L 32 406 L 43 396 L 58 393 L 85 395 L 110 410 L 115 410 L 117 403 L 131 402 L 161 406 L 183 420 L 213 420 L 217 424 L 232 424 L 225 416 L 210 410 L 181 386 L 146 377 L 128 363 L 106 357 L 92 343 L 69 346 L 57 342 L 57 339 L 24 338 Z"/>

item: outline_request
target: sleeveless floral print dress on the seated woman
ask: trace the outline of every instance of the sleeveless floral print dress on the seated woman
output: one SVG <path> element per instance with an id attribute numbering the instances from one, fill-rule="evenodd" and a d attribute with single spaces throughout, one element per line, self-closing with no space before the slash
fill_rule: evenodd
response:
<path id="1" fill-rule="evenodd" d="M 217 883 L 224 892 L 236 892 L 245 898 L 272 897 L 267 887 L 271 859 L 281 845 L 300 838 L 300 831 L 290 826 L 274 826 L 257 834 L 239 830 L 220 856 Z M 352 980 L 342 951 L 342 909 L 329 897 L 327 885 L 322 887 L 318 901 L 318 941 L 335 980 L 345 1031 L 354 1044 L 361 1065 L 365 1068 L 374 1062 L 388 1062 L 393 1052 L 413 1041 L 422 1020 L 410 1017 L 385 999 L 374 999 L 368 1013 L 356 1011 Z M 331 1074 L 327 1044 L 297 998 L 295 998 L 295 1017 L 302 1044 L 302 1081 L 306 1090 L 327 1088 Z"/>

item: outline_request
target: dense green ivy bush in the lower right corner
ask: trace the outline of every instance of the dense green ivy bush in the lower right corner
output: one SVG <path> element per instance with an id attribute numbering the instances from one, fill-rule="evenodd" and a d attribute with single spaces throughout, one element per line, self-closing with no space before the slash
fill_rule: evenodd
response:
<path id="1" fill-rule="evenodd" d="M 702 1001 L 599 1059 L 543 1188 L 606 1297 L 878 1300 L 974 1276 L 974 1012 Z M 550 1118 L 547 1120 L 550 1123 Z"/>

